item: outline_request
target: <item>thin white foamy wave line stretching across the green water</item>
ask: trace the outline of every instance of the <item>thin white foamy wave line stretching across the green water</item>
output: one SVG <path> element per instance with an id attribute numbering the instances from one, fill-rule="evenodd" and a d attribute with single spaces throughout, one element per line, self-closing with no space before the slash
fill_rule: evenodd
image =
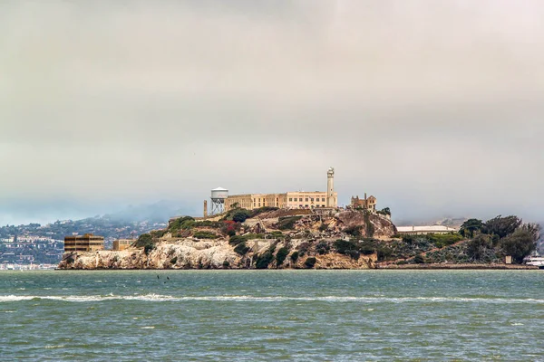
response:
<path id="1" fill-rule="evenodd" d="M 485 303 L 485 304 L 544 304 L 541 299 L 509 299 L 509 298 L 461 298 L 461 297 L 256 297 L 250 295 L 219 295 L 219 296 L 187 296 L 176 297 L 171 295 L 145 294 L 145 295 L 3 295 L 0 302 L 19 300 L 61 300 L 73 302 L 107 301 L 107 300 L 137 300 L 137 301 L 238 301 L 238 302 L 282 302 L 282 301 L 323 301 L 323 302 L 360 302 L 360 303 L 410 303 L 410 302 L 432 302 L 432 303 Z"/>

